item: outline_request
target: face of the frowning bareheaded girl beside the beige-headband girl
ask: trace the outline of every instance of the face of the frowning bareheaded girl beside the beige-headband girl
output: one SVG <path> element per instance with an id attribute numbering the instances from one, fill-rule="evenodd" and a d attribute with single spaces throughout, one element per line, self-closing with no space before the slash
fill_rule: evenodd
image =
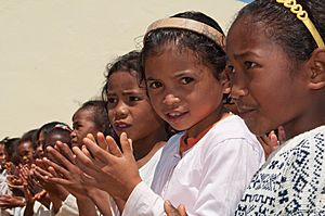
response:
<path id="1" fill-rule="evenodd" d="M 144 139 L 162 128 L 162 120 L 154 112 L 146 89 L 139 87 L 135 73 L 118 71 L 108 78 L 108 118 L 115 132 L 122 131 L 133 140 Z"/>

